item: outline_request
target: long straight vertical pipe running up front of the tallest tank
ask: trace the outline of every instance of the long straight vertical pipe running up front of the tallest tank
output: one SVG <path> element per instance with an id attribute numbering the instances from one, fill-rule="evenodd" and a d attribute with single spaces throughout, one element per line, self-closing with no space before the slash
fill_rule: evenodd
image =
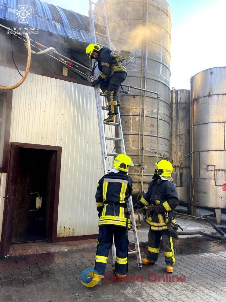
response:
<path id="1" fill-rule="evenodd" d="M 145 58 L 144 58 L 144 89 L 147 86 L 147 52 L 148 52 L 148 0 L 146 0 L 146 41 L 145 41 Z M 145 104 L 146 103 L 146 91 L 144 91 L 144 102 L 143 102 L 143 127 L 142 127 L 142 182 L 144 182 L 144 122 L 145 122 Z"/>

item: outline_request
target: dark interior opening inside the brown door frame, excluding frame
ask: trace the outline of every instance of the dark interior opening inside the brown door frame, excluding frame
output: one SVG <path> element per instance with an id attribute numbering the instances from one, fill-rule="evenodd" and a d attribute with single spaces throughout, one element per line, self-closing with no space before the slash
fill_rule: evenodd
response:
<path id="1" fill-rule="evenodd" d="M 12 243 L 48 239 L 53 155 L 20 148 Z"/>

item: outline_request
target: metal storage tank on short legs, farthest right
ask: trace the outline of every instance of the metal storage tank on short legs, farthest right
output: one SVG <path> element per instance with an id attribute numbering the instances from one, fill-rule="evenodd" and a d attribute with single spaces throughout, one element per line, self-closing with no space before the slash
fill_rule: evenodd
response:
<path id="1" fill-rule="evenodd" d="M 226 67 L 201 71 L 191 77 L 191 201 L 213 208 L 217 223 L 226 195 Z"/>

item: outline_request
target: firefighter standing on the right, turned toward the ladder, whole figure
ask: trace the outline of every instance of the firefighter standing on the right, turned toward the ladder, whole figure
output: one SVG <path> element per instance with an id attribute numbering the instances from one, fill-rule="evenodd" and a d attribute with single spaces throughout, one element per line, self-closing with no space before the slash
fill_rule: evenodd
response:
<path id="1" fill-rule="evenodd" d="M 177 227 L 173 210 L 179 201 L 177 192 L 171 181 L 173 172 L 172 164 L 167 160 L 155 163 L 153 181 L 147 194 L 141 198 L 133 209 L 140 209 L 151 205 L 151 211 L 146 222 L 150 225 L 148 233 L 147 258 L 142 259 L 142 264 L 154 264 L 159 255 L 160 238 L 162 237 L 165 252 L 166 271 L 173 272 L 175 265 L 174 240 L 178 239 Z"/>

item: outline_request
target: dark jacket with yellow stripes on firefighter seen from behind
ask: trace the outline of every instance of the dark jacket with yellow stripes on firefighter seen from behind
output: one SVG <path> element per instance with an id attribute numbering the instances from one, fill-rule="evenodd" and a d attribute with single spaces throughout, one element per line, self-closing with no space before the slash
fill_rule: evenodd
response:
<path id="1" fill-rule="evenodd" d="M 124 211 L 132 193 L 133 181 L 126 172 L 108 173 L 97 184 L 96 203 L 99 226 L 115 225 L 126 227 Z M 130 228 L 130 220 L 128 221 Z"/>

